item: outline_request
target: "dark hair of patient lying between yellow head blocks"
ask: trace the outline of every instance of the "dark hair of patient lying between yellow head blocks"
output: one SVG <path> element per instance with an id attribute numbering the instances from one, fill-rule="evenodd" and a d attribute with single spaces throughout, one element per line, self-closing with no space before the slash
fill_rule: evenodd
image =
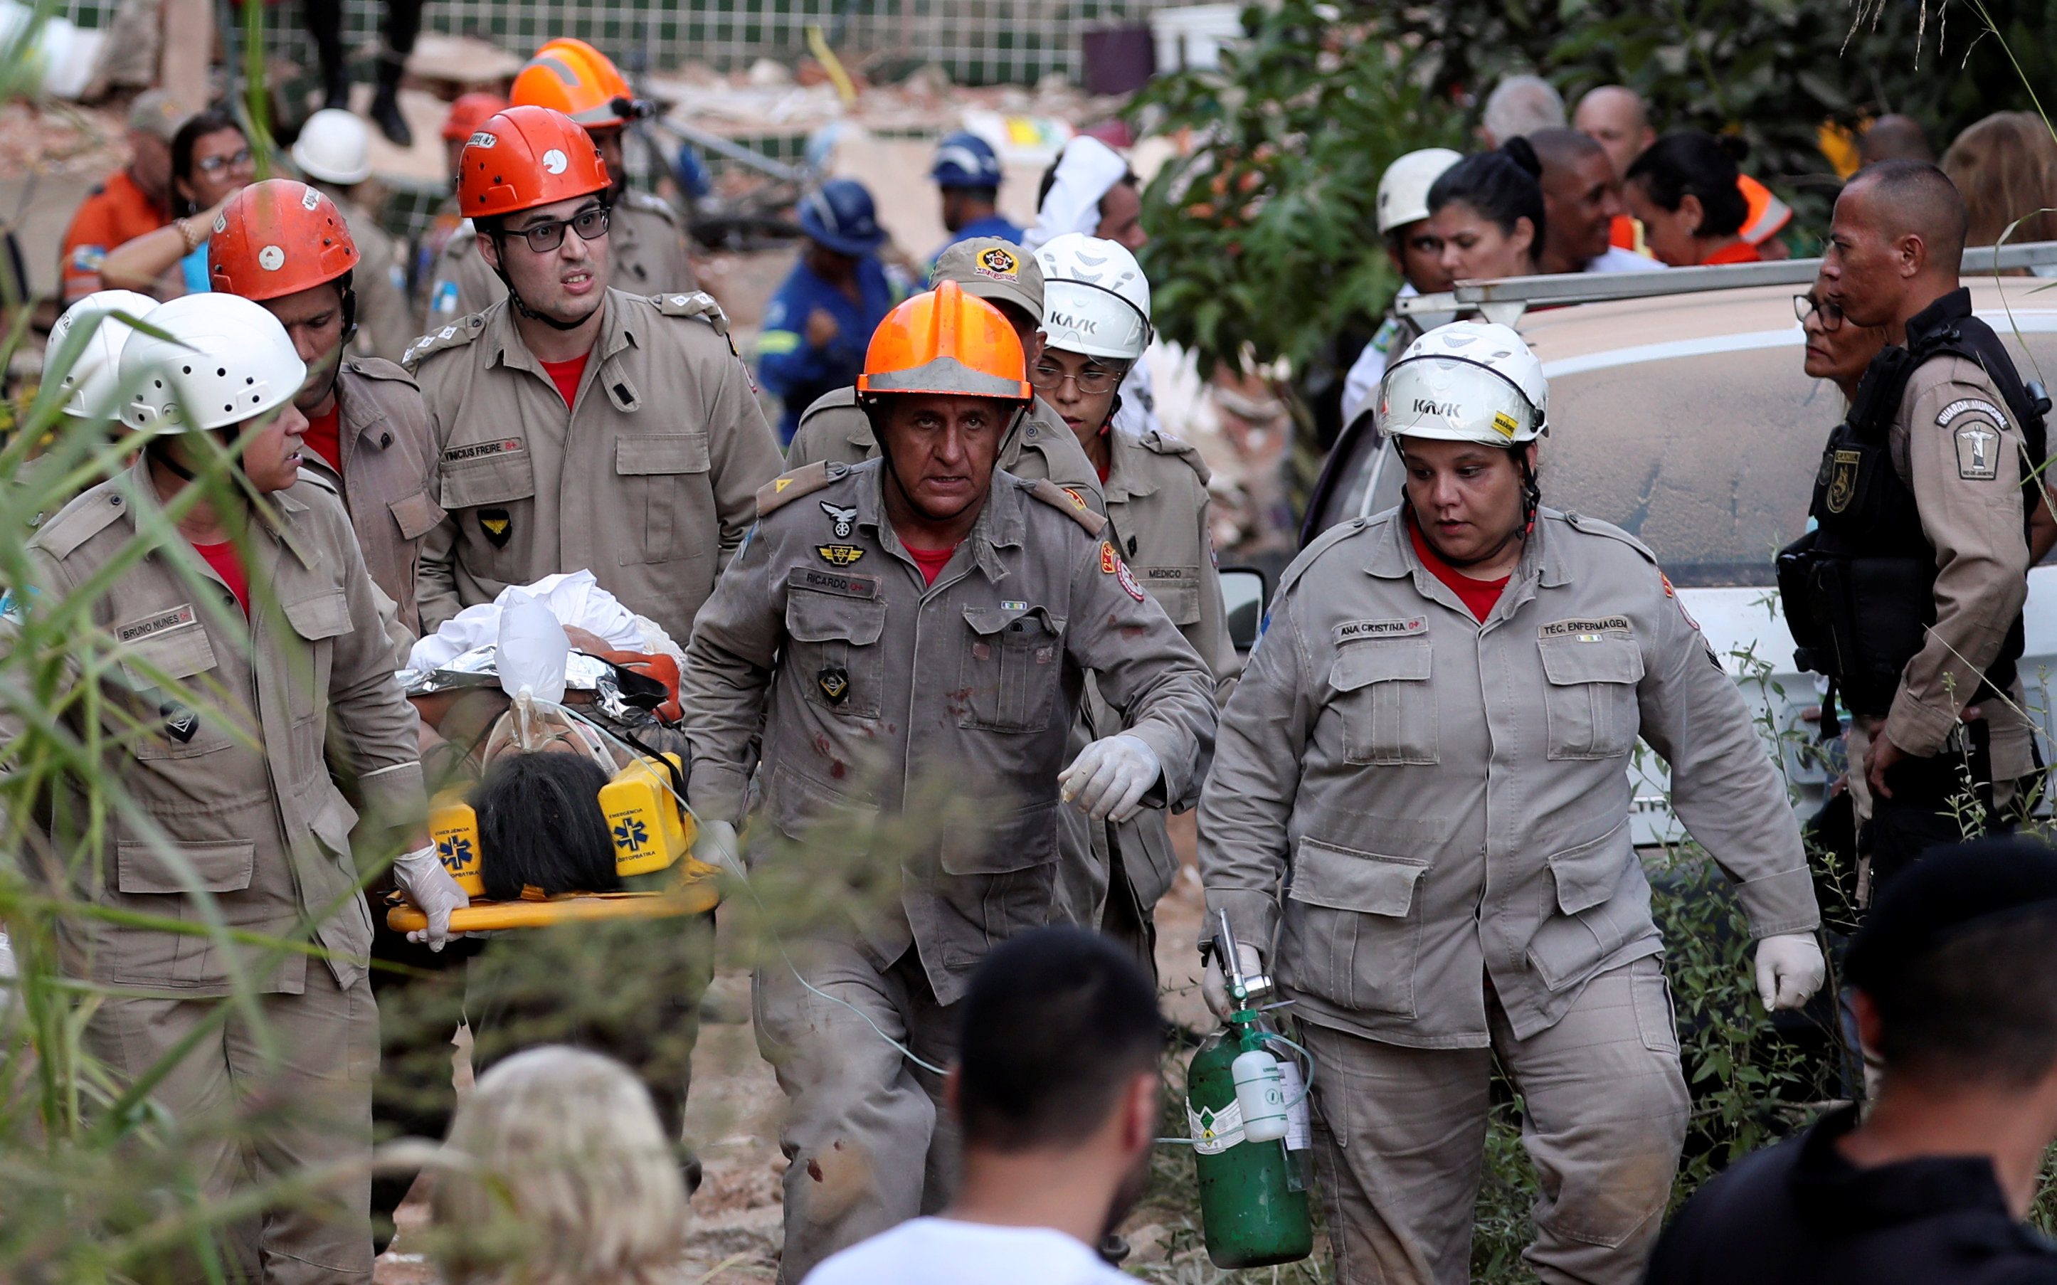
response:
<path id="1" fill-rule="evenodd" d="M 543 892 L 619 892 L 615 843 L 601 812 L 607 771 L 584 755 L 504 755 L 471 792 L 479 880 L 494 901 Z"/>

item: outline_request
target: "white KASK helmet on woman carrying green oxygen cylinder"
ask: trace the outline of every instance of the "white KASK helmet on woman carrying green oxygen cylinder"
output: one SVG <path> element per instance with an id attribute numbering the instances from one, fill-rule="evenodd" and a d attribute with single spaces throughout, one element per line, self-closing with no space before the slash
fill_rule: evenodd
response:
<path id="1" fill-rule="evenodd" d="M 1489 321 L 1440 325 L 1386 370 L 1378 428 L 1388 438 L 1514 446 L 1549 426 L 1549 380 L 1522 337 Z"/>

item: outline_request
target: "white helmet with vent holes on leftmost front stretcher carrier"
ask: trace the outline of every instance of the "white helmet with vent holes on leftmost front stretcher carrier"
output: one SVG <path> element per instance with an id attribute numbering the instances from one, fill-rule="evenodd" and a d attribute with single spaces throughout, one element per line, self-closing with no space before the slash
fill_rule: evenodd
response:
<path id="1" fill-rule="evenodd" d="M 241 294 L 185 294 L 142 321 L 177 341 L 138 331 L 121 350 L 121 384 L 136 389 L 121 407 L 130 428 L 228 428 L 292 401 L 306 380 L 286 327 Z"/>

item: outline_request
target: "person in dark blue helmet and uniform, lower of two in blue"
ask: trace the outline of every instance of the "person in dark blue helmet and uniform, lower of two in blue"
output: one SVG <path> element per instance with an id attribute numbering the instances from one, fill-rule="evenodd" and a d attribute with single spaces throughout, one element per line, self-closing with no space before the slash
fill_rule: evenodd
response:
<path id="1" fill-rule="evenodd" d="M 864 343 L 903 294 L 878 261 L 887 230 L 856 179 L 829 179 L 808 193 L 800 230 L 800 261 L 765 306 L 757 335 L 757 378 L 786 405 L 780 442 L 792 440 L 800 411 L 817 397 L 856 382 Z"/>

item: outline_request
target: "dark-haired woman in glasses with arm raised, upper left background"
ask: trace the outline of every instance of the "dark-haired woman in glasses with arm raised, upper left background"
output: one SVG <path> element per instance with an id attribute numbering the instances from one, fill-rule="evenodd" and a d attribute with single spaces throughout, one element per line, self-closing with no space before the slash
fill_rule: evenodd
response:
<path id="1" fill-rule="evenodd" d="M 109 251 L 101 278 L 156 298 L 204 294 L 214 218 L 255 173 L 249 138 L 234 117 L 202 111 L 185 121 L 171 140 L 173 220 Z"/>

